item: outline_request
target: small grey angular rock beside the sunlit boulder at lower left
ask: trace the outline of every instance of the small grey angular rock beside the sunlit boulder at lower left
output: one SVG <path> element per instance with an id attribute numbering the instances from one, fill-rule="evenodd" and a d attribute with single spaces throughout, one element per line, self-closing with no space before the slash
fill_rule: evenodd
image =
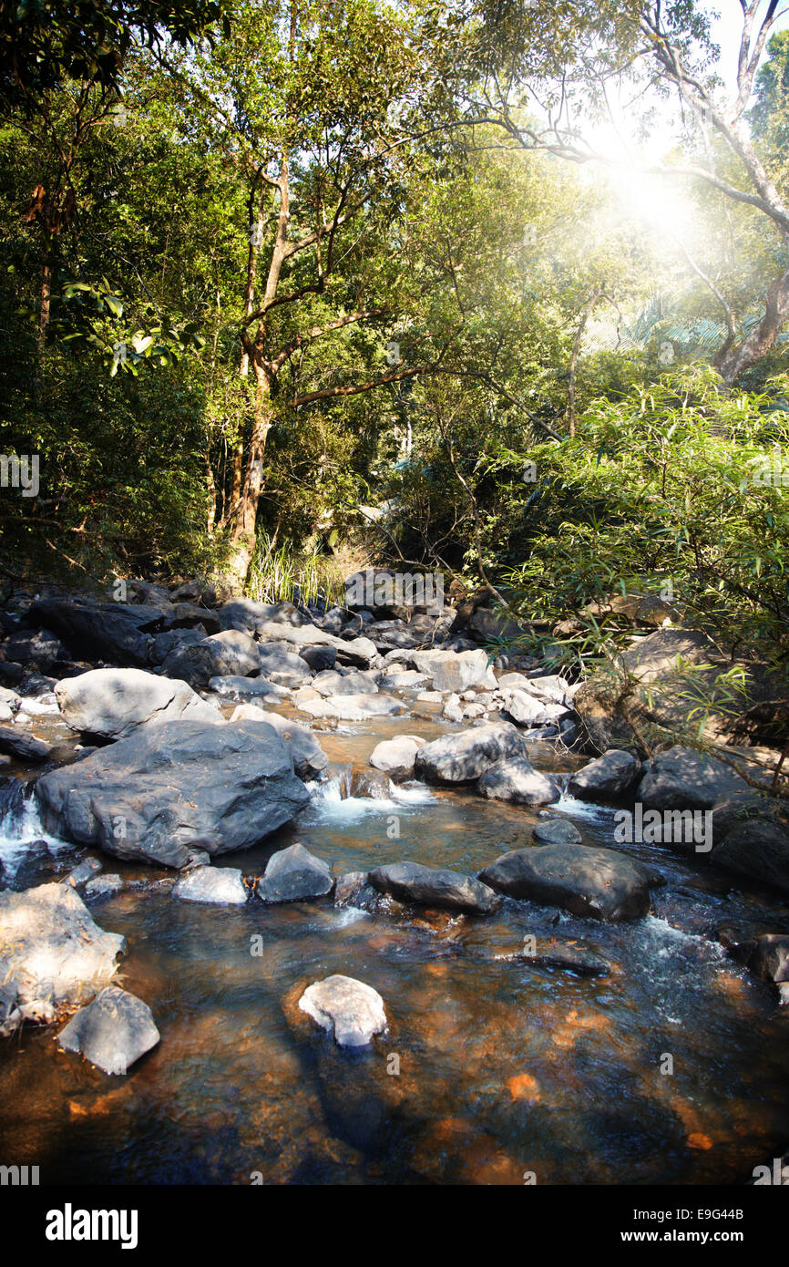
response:
<path id="1" fill-rule="evenodd" d="M 79 1052 L 104 1073 L 124 1074 L 160 1041 L 153 1014 L 142 998 L 108 986 L 58 1034 L 63 1052 Z"/>

